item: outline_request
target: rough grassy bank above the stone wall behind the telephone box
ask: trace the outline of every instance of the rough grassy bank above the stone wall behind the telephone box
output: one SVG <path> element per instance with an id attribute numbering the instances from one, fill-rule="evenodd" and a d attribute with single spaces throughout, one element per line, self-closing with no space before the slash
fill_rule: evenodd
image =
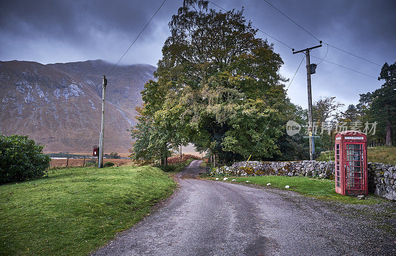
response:
<path id="1" fill-rule="evenodd" d="M 316 160 L 329 161 L 334 160 L 334 157 L 334 151 L 325 151 Z M 379 146 L 367 148 L 367 161 L 396 164 L 396 147 Z"/>

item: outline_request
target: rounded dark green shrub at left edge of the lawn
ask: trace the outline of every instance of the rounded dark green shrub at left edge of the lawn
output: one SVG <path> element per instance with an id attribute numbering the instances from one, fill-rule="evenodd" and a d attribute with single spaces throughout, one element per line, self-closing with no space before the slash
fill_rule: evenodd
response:
<path id="1" fill-rule="evenodd" d="M 51 157 L 28 136 L 0 134 L 0 184 L 39 178 L 46 174 Z"/>

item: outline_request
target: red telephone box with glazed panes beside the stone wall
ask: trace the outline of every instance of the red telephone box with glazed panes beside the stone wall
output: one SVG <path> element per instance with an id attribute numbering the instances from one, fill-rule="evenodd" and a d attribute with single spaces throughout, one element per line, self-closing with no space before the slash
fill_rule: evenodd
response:
<path id="1" fill-rule="evenodd" d="M 367 136 L 358 131 L 336 135 L 336 192 L 367 196 Z"/>

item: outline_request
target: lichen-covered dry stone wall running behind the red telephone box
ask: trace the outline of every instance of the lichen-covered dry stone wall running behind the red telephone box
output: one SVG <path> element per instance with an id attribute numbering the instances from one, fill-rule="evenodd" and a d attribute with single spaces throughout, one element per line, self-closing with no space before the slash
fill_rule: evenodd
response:
<path id="1" fill-rule="evenodd" d="M 368 168 L 368 189 L 380 197 L 396 200 L 396 167 L 392 164 L 371 163 Z M 235 162 L 232 166 L 212 168 L 211 175 L 230 176 L 305 176 L 334 179 L 334 161 Z"/>

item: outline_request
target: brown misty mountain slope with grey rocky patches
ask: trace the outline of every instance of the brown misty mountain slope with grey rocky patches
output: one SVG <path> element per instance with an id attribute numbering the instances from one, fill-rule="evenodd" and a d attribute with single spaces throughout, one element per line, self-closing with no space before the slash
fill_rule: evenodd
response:
<path id="1" fill-rule="evenodd" d="M 43 65 L 0 61 L 0 131 L 46 145 L 45 152 L 91 152 L 100 133 L 101 81 L 113 64 L 103 60 Z M 105 151 L 126 153 L 140 92 L 155 67 L 117 66 L 107 76 Z M 111 84 L 111 85 L 110 85 Z"/>

